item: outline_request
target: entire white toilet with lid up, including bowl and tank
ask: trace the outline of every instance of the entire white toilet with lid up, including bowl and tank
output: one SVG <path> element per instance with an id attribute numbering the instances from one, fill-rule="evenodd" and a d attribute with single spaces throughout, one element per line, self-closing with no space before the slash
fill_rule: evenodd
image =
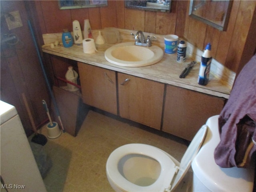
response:
<path id="1" fill-rule="evenodd" d="M 126 144 L 108 157 L 106 175 L 115 191 L 252 191 L 253 168 L 216 165 L 213 152 L 219 141 L 218 116 L 213 116 L 198 130 L 181 162 L 154 146 Z M 193 172 L 188 172 L 191 164 Z"/>

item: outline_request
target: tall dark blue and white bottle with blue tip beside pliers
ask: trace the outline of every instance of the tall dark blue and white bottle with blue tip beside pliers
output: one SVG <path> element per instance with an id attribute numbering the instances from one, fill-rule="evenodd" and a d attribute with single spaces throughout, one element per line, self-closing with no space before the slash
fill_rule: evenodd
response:
<path id="1" fill-rule="evenodd" d="M 211 44 L 208 43 L 202 54 L 202 61 L 200 64 L 200 70 L 198 75 L 198 84 L 206 85 L 209 81 L 209 74 L 210 74 L 210 66 L 212 62 L 211 56 Z"/>

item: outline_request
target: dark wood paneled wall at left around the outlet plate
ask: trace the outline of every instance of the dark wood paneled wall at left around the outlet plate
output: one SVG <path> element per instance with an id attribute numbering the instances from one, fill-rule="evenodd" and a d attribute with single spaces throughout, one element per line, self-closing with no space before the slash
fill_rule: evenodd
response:
<path id="1" fill-rule="evenodd" d="M 24 126 L 26 134 L 33 133 L 22 94 L 26 96 L 34 123 L 40 127 L 47 120 L 42 100 L 50 104 L 44 75 L 40 67 L 36 49 L 31 38 L 27 20 L 30 16 L 25 1 L 0 1 L 1 8 L 1 100 L 12 104 Z M 22 27 L 8 29 L 4 13 L 19 11 Z M 4 34 L 15 34 L 19 41 L 15 45 L 3 43 Z"/>

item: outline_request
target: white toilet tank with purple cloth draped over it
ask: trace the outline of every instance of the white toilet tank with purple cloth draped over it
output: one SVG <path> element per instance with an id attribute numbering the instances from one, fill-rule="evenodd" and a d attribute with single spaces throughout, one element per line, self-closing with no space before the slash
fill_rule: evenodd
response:
<path id="1" fill-rule="evenodd" d="M 206 125 L 208 132 L 204 144 L 192 162 L 192 191 L 252 191 L 255 168 L 218 166 L 214 160 L 214 150 L 220 142 L 218 116 L 210 117 Z"/>

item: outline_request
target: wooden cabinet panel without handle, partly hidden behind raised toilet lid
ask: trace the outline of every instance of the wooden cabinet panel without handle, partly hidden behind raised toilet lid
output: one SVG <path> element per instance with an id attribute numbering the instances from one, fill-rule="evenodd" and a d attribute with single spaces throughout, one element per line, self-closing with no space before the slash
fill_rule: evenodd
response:
<path id="1" fill-rule="evenodd" d="M 209 117 L 220 114 L 224 102 L 224 98 L 167 85 L 162 130 L 192 140 Z"/>

